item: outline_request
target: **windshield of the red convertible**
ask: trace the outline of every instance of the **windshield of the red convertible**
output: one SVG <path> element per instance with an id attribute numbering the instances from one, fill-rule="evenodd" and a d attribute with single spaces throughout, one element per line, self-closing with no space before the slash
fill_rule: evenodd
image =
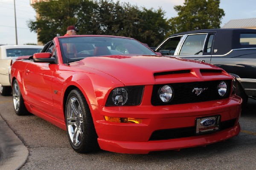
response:
<path id="1" fill-rule="evenodd" d="M 64 63 L 104 55 L 156 55 L 137 40 L 122 37 L 65 37 L 59 42 Z"/>

